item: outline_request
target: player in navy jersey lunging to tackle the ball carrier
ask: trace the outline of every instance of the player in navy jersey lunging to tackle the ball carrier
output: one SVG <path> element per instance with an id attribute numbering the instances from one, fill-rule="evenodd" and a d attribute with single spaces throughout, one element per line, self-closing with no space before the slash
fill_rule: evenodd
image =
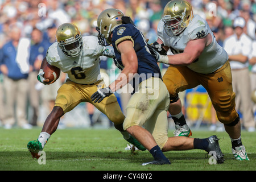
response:
<path id="1" fill-rule="evenodd" d="M 126 106 L 123 129 L 133 135 L 152 154 L 154 160 L 143 163 L 143 166 L 171 164 L 163 155 L 163 151 L 193 149 L 194 139 L 167 136 L 169 93 L 144 36 L 130 18 L 123 16 L 123 13 L 117 9 L 102 11 L 97 23 L 100 44 L 105 44 L 105 40 L 109 44 L 112 43 L 116 57 L 115 64 L 122 71 L 108 88 L 99 88 L 92 95 L 92 101 L 101 102 L 128 82 L 139 79 L 138 82 L 133 82 L 137 88 L 134 87 L 135 93 Z M 213 141 L 214 144 L 208 141 Z M 200 149 L 214 150 L 213 148 L 216 147 L 218 150 L 218 143 L 214 141 L 216 140 L 199 139 L 196 147 L 203 146 L 203 143 L 207 148 Z"/>

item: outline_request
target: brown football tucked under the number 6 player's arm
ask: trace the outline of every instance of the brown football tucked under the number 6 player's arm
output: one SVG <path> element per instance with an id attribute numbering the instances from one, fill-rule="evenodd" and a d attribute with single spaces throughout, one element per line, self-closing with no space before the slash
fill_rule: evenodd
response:
<path id="1" fill-rule="evenodd" d="M 46 83 L 47 85 L 52 84 L 57 80 L 57 78 L 60 77 L 60 68 L 57 68 L 48 63 L 44 67 L 43 71 L 44 71 L 44 78 L 49 80 L 49 82 Z"/>

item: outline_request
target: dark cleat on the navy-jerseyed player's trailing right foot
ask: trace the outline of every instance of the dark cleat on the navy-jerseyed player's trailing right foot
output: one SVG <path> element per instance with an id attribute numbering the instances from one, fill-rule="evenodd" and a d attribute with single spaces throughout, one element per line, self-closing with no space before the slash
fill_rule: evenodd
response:
<path id="1" fill-rule="evenodd" d="M 224 159 L 224 154 L 222 154 L 221 149 L 220 149 L 220 145 L 218 144 L 218 139 L 216 135 L 210 136 L 209 138 L 207 138 L 207 141 L 209 143 L 208 147 L 207 147 L 207 151 L 208 153 L 210 151 L 214 151 L 213 156 L 216 159 L 218 164 L 222 164 L 224 163 L 225 159 Z"/>

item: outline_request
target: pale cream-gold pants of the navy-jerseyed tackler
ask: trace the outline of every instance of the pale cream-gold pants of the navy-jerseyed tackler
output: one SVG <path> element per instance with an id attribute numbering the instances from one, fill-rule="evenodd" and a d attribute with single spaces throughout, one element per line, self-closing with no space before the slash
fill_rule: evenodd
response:
<path id="1" fill-rule="evenodd" d="M 131 96 L 127 106 L 123 129 L 130 126 L 144 126 L 162 149 L 168 140 L 167 110 L 169 94 L 160 78 L 142 81 L 137 92 Z"/>

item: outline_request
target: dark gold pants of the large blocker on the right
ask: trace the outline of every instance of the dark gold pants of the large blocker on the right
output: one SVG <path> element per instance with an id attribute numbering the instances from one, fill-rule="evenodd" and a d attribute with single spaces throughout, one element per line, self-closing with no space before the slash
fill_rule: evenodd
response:
<path id="1" fill-rule="evenodd" d="M 170 98 L 176 97 L 179 92 L 202 85 L 209 94 L 218 121 L 229 124 L 238 117 L 229 61 L 210 74 L 196 73 L 187 67 L 170 66 L 163 76 L 163 81 Z"/>

